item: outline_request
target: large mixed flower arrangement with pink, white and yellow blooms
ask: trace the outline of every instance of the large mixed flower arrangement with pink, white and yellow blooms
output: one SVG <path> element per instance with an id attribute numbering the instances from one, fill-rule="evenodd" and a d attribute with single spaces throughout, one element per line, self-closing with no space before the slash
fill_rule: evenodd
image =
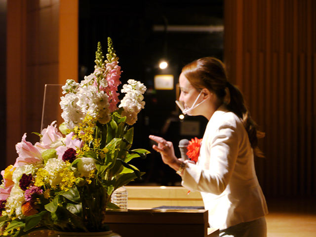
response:
<path id="1" fill-rule="evenodd" d="M 93 74 L 62 87 L 62 118 L 52 122 L 35 145 L 26 134 L 16 145 L 14 165 L 1 171 L 0 233 L 20 237 L 34 231 L 102 232 L 112 193 L 143 173 L 128 162 L 145 158 L 130 150 L 137 114 L 144 108 L 146 87 L 129 79 L 121 90 L 118 57 L 108 38 L 104 58 L 98 43 Z"/>

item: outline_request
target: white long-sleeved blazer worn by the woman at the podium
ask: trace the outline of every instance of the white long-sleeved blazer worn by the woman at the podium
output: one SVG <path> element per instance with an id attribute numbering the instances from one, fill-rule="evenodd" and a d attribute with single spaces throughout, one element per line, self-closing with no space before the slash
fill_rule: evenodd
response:
<path id="1" fill-rule="evenodd" d="M 186 162 L 182 186 L 201 192 L 213 228 L 224 230 L 268 213 L 248 134 L 225 106 L 207 123 L 197 164 Z"/>

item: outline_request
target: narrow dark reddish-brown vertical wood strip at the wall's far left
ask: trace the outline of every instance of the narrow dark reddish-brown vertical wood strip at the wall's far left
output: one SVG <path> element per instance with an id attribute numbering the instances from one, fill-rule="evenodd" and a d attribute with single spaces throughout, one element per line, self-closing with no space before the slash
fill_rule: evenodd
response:
<path id="1" fill-rule="evenodd" d="M 26 7 L 25 1 L 7 2 L 6 58 L 6 166 L 16 158 L 15 144 L 26 128 Z M 17 67 L 19 65 L 19 67 Z M 14 93 L 9 93 L 14 91 Z"/>

